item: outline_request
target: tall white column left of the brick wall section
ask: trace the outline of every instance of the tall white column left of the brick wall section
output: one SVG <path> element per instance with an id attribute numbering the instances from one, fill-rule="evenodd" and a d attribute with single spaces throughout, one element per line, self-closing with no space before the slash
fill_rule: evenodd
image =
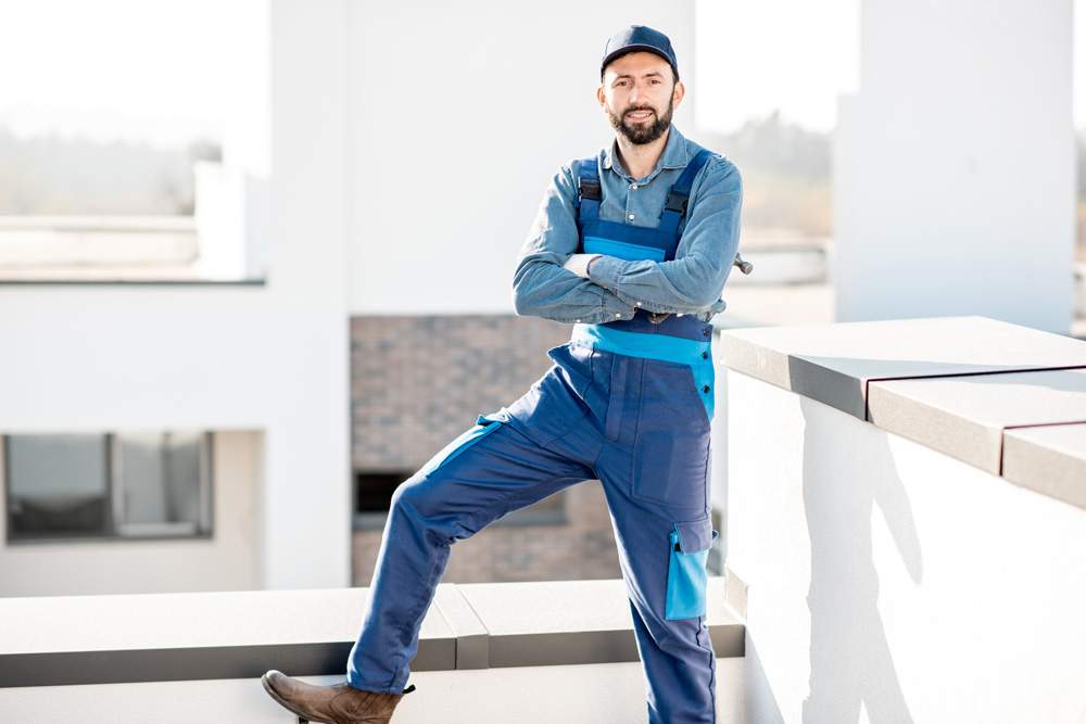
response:
<path id="1" fill-rule="evenodd" d="M 351 583 L 349 3 L 272 0 L 264 585 Z"/>

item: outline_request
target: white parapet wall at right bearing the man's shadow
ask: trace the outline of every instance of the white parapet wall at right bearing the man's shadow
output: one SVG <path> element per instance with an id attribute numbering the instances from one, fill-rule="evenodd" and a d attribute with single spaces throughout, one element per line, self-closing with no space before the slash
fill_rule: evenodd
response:
<path id="1" fill-rule="evenodd" d="M 1086 510 L 727 376 L 747 721 L 1082 721 Z"/>

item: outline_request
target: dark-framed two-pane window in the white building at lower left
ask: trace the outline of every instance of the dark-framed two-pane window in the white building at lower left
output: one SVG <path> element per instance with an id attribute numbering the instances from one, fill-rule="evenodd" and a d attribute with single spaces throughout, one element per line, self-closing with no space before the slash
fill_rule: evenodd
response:
<path id="1" fill-rule="evenodd" d="M 207 432 L 4 437 L 8 539 L 202 537 Z"/>

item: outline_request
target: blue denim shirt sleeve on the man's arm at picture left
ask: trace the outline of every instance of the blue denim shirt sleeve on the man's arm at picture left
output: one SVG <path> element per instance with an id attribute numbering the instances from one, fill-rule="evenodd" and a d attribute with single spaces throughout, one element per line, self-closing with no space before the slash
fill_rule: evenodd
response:
<path id="1" fill-rule="evenodd" d="M 597 323 L 631 319 L 635 309 L 614 292 L 563 268 L 577 252 L 577 187 L 571 164 L 547 185 L 513 275 L 518 315 L 560 322 Z M 603 259 L 596 259 L 596 264 Z M 595 266 L 595 265 L 593 265 Z"/>

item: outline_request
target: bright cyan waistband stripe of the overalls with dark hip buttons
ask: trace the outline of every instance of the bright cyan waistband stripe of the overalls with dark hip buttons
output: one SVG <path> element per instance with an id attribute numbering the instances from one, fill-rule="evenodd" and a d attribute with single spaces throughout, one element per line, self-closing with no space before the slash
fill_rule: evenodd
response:
<path id="1" fill-rule="evenodd" d="M 606 325 L 586 325 L 584 322 L 573 325 L 570 342 L 619 355 L 690 365 L 698 397 L 702 399 L 702 405 L 705 406 L 705 414 L 710 420 L 712 419 L 716 404 L 712 392 L 715 370 L 711 342 L 686 340 L 670 334 L 626 332 L 620 329 L 611 329 Z M 707 357 L 704 356 L 706 353 Z M 708 388 L 708 392 L 705 391 L 706 388 Z"/>

